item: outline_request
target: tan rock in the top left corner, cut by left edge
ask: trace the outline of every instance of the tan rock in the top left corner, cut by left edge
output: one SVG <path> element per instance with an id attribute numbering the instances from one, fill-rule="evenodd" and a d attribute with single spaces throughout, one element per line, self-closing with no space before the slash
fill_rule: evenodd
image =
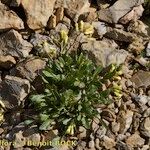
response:
<path id="1" fill-rule="evenodd" d="M 8 29 L 23 29 L 24 23 L 23 21 L 17 16 L 15 12 L 9 10 L 7 6 L 0 2 L 0 31 L 5 31 Z"/>

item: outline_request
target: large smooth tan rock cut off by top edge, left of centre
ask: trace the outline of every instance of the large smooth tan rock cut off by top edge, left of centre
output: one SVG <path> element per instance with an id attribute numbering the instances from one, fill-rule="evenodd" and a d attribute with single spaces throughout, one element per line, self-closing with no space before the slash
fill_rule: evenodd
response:
<path id="1" fill-rule="evenodd" d="M 53 13 L 56 0 L 22 0 L 21 5 L 27 16 L 29 28 L 36 30 L 46 27 Z"/>

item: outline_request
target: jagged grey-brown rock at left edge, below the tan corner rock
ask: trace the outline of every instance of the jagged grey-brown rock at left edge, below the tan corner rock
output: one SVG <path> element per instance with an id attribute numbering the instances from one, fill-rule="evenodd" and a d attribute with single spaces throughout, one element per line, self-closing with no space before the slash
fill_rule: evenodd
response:
<path id="1" fill-rule="evenodd" d="M 18 58 L 27 57 L 32 44 L 25 41 L 15 30 L 0 35 L 0 55 L 11 55 Z"/>

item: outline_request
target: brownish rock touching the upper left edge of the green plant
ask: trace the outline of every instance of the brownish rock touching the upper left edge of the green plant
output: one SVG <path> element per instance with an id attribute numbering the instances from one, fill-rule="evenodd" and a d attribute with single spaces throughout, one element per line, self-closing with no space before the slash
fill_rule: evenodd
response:
<path id="1" fill-rule="evenodd" d="M 11 70 L 12 75 L 26 78 L 33 81 L 38 75 L 42 73 L 46 62 L 39 58 L 31 58 L 18 64 Z"/>

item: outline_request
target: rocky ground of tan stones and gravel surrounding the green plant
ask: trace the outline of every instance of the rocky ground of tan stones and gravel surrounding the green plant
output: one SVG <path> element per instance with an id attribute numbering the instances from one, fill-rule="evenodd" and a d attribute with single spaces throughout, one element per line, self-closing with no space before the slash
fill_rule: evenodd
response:
<path id="1" fill-rule="evenodd" d="M 1 0 L 0 18 L 0 99 L 6 107 L 0 150 L 150 150 L 150 18 L 143 0 Z M 81 20 L 93 31 L 76 32 Z M 34 114 L 29 94 L 42 89 L 43 50 L 57 49 L 52 38 L 61 30 L 69 34 L 69 50 L 86 50 L 104 67 L 123 64 L 123 96 L 98 108 L 107 128 L 96 119 L 90 131 L 79 127 L 70 137 L 78 142 L 74 148 L 30 146 L 26 141 L 59 135 L 57 129 L 43 133 L 24 121 Z"/>

